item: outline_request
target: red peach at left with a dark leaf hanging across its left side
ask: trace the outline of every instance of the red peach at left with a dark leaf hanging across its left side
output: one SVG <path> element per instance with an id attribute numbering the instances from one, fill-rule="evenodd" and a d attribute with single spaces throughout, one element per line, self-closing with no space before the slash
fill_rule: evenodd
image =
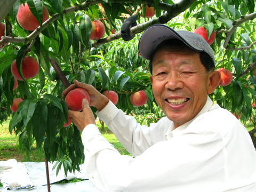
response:
<path id="1" fill-rule="evenodd" d="M 16 66 L 16 59 L 12 62 L 11 71 L 15 78 L 17 78 L 19 81 L 23 81 Z M 25 79 L 34 78 L 39 71 L 37 60 L 30 56 L 25 57 L 21 63 L 21 71 Z"/>

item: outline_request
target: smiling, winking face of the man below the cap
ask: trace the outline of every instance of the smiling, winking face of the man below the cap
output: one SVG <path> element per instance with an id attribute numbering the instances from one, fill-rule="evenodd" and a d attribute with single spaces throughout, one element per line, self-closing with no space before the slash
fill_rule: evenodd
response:
<path id="1" fill-rule="evenodd" d="M 150 77 L 154 97 L 175 127 L 190 121 L 204 107 L 211 93 L 210 77 L 199 52 L 165 47 L 155 53 Z"/>

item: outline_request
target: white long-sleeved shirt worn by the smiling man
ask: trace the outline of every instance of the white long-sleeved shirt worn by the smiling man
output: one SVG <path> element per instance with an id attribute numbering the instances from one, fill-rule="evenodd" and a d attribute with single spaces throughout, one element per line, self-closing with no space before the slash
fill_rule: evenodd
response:
<path id="1" fill-rule="evenodd" d="M 141 126 L 113 103 L 97 115 L 125 156 L 90 124 L 82 132 L 86 172 L 101 191 L 256 191 L 256 152 L 245 127 L 210 98 L 190 122 L 174 129 L 162 118 Z"/>

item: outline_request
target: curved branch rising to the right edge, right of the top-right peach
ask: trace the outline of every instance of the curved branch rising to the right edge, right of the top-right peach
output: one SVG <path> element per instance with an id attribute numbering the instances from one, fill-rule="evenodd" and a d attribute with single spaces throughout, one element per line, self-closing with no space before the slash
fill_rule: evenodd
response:
<path id="1" fill-rule="evenodd" d="M 228 43 L 230 41 L 230 38 L 231 36 L 235 33 L 235 30 L 236 28 L 241 25 L 242 23 L 246 22 L 246 21 L 249 21 L 249 20 L 252 20 L 252 19 L 255 19 L 256 18 L 256 12 L 255 13 L 251 13 L 251 14 L 247 14 L 245 16 L 242 16 L 241 18 L 235 20 L 233 22 L 233 27 L 231 27 L 229 30 L 228 30 L 228 34 L 227 34 L 227 37 L 225 38 L 225 42 L 223 44 L 223 47 L 225 49 L 227 49 L 228 47 Z"/>

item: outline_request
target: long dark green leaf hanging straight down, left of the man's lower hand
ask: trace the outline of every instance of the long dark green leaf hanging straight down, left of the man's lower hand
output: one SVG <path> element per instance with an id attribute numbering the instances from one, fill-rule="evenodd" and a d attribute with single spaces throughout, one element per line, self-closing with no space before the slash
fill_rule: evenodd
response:
<path id="1" fill-rule="evenodd" d="M 47 126 L 47 105 L 38 102 L 33 115 L 33 135 L 36 139 L 36 147 L 41 147 Z"/>

